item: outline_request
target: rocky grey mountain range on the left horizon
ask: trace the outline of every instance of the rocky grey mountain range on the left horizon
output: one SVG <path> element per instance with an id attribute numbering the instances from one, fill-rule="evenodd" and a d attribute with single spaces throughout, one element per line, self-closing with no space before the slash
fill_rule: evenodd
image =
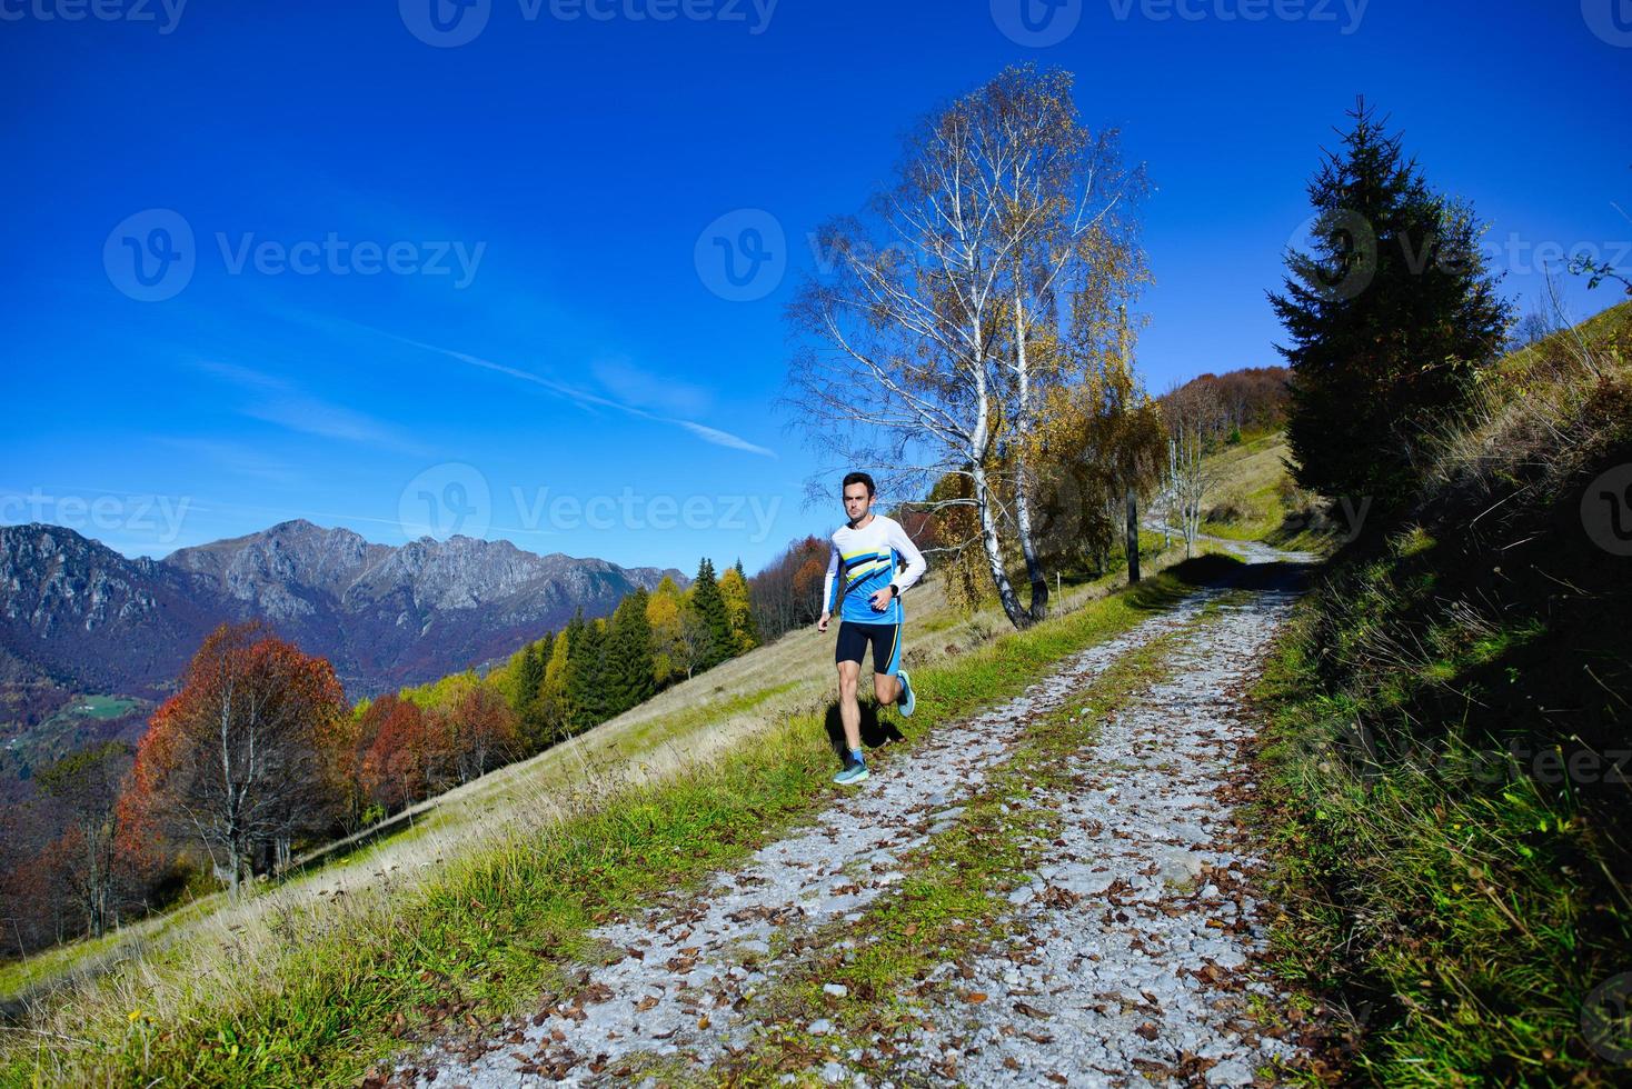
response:
<path id="1" fill-rule="evenodd" d="M 468 536 L 375 544 L 305 520 L 163 559 L 57 525 L 7 525 L 0 725 L 15 738 L 75 693 L 162 698 L 215 624 L 251 618 L 333 662 L 357 699 L 503 659 L 664 575 L 687 585 L 674 569 Z"/>

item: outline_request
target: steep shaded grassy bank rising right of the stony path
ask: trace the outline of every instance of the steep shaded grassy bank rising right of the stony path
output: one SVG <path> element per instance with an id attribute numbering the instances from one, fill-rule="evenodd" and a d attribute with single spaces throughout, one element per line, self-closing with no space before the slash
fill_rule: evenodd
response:
<path id="1" fill-rule="evenodd" d="M 1262 688 L 1276 944 L 1348 1004 L 1361 1079 L 1612 1084 L 1632 1058 L 1632 541 L 1604 507 L 1629 360 L 1632 303 L 1505 360 Z"/>

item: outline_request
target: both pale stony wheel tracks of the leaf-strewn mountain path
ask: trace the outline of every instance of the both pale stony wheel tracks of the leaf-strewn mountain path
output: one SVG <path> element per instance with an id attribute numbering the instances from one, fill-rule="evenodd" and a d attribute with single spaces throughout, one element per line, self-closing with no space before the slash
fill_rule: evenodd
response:
<path id="1" fill-rule="evenodd" d="M 754 999 L 803 955 L 800 934 L 862 918 L 902 879 L 902 858 L 958 835 L 961 800 L 1009 758 L 1028 721 L 1058 711 L 1121 655 L 1193 623 L 1221 593 L 1198 592 L 1067 659 L 1015 699 L 937 729 L 702 895 L 599 928 L 594 937 L 622 955 L 586 968 L 571 1001 L 550 1001 L 485 1042 L 432 1047 L 398 1066 L 400 1084 L 617 1084 L 630 1060 L 651 1055 L 684 1060 L 707 1079 L 723 1050 L 752 1043 Z M 1253 593 L 1200 626 L 1172 680 L 1134 698 L 1079 752 L 1079 786 L 1044 799 L 1069 830 L 1010 898 L 1030 937 L 963 968 L 969 986 L 1004 1001 L 932 1006 L 935 1030 L 904 1052 L 855 1048 L 814 1076 L 888 1084 L 860 1073 L 888 1069 L 924 1084 L 956 1068 L 968 1084 L 1136 1084 L 1164 1073 L 1247 1084 L 1255 1066 L 1291 1056 L 1293 1045 L 1242 1017 L 1248 994 L 1275 994 L 1248 968 L 1262 949 L 1244 888 L 1255 859 L 1237 853 L 1231 823 L 1235 796 L 1250 787 L 1235 773 L 1247 727 L 1232 688 L 1289 602 Z M 1017 1014 L 1017 1001 L 1030 1012 Z"/>

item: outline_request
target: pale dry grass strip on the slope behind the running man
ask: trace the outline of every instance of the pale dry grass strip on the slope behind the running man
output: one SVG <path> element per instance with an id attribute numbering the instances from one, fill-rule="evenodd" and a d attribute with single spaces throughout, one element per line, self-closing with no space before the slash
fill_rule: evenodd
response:
<path id="1" fill-rule="evenodd" d="M 1152 538 L 1154 540 L 1154 538 Z M 1178 553 L 1151 556 L 1147 572 L 1177 562 Z M 1056 611 L 1100 600 L 1120 584 L 1120 574 L 1064 580 Z M 958 616 L 935 579 L 914 590 L 906 660 L 914 670 L 950 664 L 1007 629 L 996 606 Z M 831 634 L 788 633 L 777 642 L 733 659 L 694 680 L 666 690 L 640 708 L 579 735 L 566 745 L 509 765 L 467 786 L 413 807 L 379 835 L 323 853 L 282 880 L 256 882 L 233 903 L 212 893 L 183 906 L 127 923 L 98 941 L 73 941 L 0 968 L 0 996 L 38 998 L 65 981 L 90 978 L 127 963 L 166 965 L 206 960 L 238 942 L 261 942 L 286 903 L 331 893 L 367 893 L 377 880 L 401 872 L 424 872 L 428 859 L 480 849 L 486 830 L 516 813 L 553 810 L 561 797 L 591 779 L 661 779 L 679 768 L 707 761 L 788 717 L 816 714 L 827 706 Z M 15 988 L 15 990 L 13 990 Z"/>

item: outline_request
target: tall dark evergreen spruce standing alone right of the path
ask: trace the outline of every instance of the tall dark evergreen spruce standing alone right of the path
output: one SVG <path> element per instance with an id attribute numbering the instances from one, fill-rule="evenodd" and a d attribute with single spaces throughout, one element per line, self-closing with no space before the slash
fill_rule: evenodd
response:
<path id="1" fill-rule="evenodd" d="M 1400 139 L 1361 101 L 1343 148 L 1309 184 L 1314 253 L 1289 253 L 1270 293 L 1291 346 L 1296 478 L 1384 512 L 1415 492 L 1425 443 L 1466 406 L 1511 311 L 1464 202 L 1430 191 Z"/>

